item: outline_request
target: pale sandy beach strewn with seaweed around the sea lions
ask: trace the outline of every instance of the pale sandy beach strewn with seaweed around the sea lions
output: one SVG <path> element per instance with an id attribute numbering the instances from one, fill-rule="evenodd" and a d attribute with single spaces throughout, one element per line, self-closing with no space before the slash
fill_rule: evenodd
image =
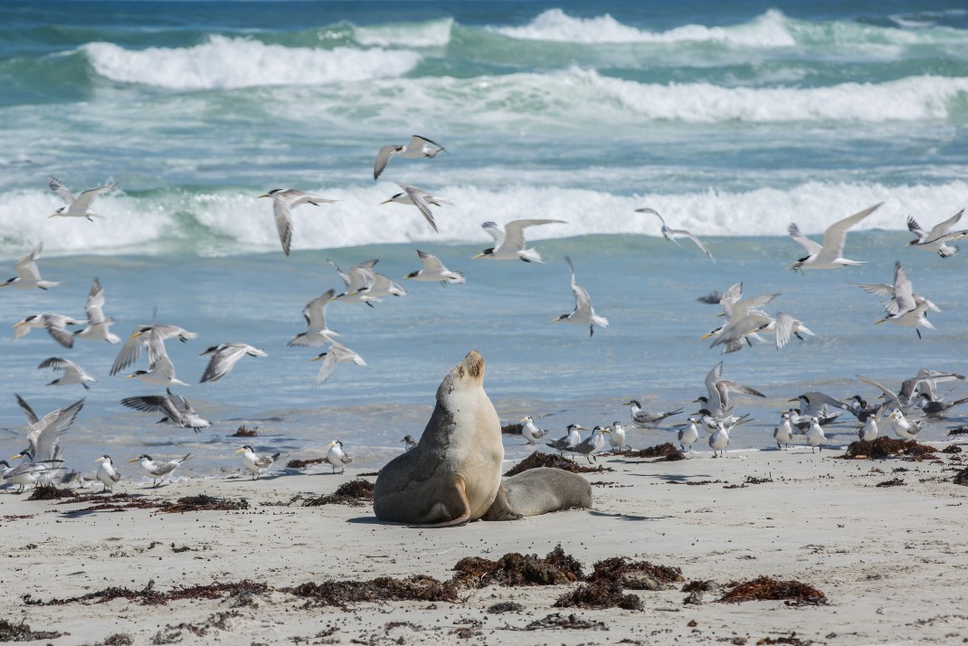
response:
<path id="1" fill-rule="evenodd" d="M 240 471 L 151 489 L 135 465 L 125 465 L 115 493 L 128 497 L 104 501 L 120 510 L 0 495 L 7 564 L 0 619 L 35 635 L 63 633 L 42 635 L 54 644 L 962 642 L 968 488 L 953 483 L 960 455 L 837 459 L 842 454 L 800 446 L 722 459 L 696 452 L 675 462 L 602 456 L 599 464 L 614 471 L 586 474 L 591 509 L 434 530 L 381 524 L 370 506 L 301 506 L 354 477 L 375 480 L 351 469 L 280 468 L 258 480 Z M 879 486 L 885 482 L 893 485 Z M 124 508 L 197 495 L 244 499 L 248 508 Z M 456 602 L 344 607 L 293 594 L 306 583 L 384 576 L 443 582 L 465 557 L 544 557 L 558 544 L 586 574 L 595 562 L 625 557 L 679 568 L 682 580 L 625 590 L 641 600 L 642 609 L 632 610 L 554 607 L 578 583 L 489 585 L 459 589 Z M 759 576 L 802 582 L 827 603 L 718 601 L 725 584 Z M 233 588 L 246 579 L 264 588 Z M 689 582 L 710 583 L 703 593 L 682 592 Z M 232 585 L 211 599 L 143 602 L 213 583 Z M 93 595 L 112 587 L 148 594 Z M 499 612 L 493 606 L 501 602 L 521 607 Z"/>

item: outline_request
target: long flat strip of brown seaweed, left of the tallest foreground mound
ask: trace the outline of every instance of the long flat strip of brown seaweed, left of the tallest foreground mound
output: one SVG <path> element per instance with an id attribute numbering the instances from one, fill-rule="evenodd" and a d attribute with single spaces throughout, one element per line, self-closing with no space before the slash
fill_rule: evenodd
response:
<path id="1" fill-rule="evenodd" d="M 380 576 L 372 581 L 323 581 L 303 583 L 286 592 L 306 600 L 305 607 L 331 605 L 347 608 L 363 601 L 458 601 L 457 588 L 449 581 L 440 582 L 430 576 L 410 576 L 395 579 Z"/>

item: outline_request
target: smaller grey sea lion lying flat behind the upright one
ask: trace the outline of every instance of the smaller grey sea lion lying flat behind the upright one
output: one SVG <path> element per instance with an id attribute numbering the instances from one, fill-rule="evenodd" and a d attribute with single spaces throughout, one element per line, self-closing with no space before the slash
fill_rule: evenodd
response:
<path id="1" fill-rule="evenodd" d="M 539 467 L 509 477 L 482 520 L 516 520 L 549 511 L 591 507 L 591 484 L 561 469 Z"/>

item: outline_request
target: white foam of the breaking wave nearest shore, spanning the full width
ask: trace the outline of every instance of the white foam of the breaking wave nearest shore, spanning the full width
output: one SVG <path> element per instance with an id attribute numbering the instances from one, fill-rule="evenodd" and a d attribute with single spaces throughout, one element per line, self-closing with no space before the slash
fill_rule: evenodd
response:
<path id="1" fill-rule="evenodd" d="M 883 201 L 884 206 L 858 229 L 903 231 L 909 214 L 931 223 L 964 207 L 968 182 L 905 186 L 807 182 L 790 189 L 648 196 L 554 186 L 488 190 L 450 185 L 435 187 L 436 193 L 456 202 L 435 209 L 439 234 L 413 207 L 379 205 L 396 190 L 389 182 L 367 188 L 318 189 L 321 195 L 340 201 L 294 209 L 292 248 L 434 241 L 479 242 L 483 249 L 490 246 L 490 238 L 480 229 L 483 220 L 504 223 L 528 213 L 553 214 L 567 223 L 535 227 L 529 230 L 532 240 L 593 233 L 658 235 L 656 218 L 634 212 L 642 206 L 651 206 L 676 226 L 703 235 L 785 236 L 790 222 L 797 222 L 807 234 L 820 233 L 832 222 Z M 252 192 L 172 191 L 142 199 L 107 195 L 98 200 L 105 219 L 94 223 L 48 220 L 45 216 L 57 205 L 56 196 L 36 191 L 0 196 L 0 227 L 15 233 L 0 242 L 0 254 L 17 258 L 41 241 L 46 253 L 62 255 L 158 253 L 172 246 L 219 255 L 279 249 L 271 204 L 254 200 Z"/>

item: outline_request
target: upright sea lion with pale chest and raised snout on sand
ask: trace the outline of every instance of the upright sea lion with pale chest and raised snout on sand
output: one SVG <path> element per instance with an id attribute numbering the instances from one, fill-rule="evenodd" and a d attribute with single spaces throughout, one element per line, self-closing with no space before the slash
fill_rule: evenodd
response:
<path id="1" fill-rule="evenodd" d="M 483 516 L 500 487 L 500 420 L 484 392 L 484 357 L 470 351 L 437 389 L 420 442 L 379 471 L 383 521 L 454 527 Z"/>

